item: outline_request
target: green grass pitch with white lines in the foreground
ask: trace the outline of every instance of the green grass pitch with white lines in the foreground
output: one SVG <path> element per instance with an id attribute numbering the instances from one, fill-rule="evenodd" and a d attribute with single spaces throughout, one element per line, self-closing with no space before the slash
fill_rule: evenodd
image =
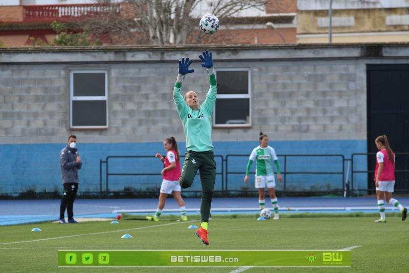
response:
<path id="1" fill-rule="evenodd" d="M 124 216 L 119 224 L 37 223 L 0 226 L 2 272 L 407 272 L 407 221 L 387 214 L 281 214 L 280 220 L 257 221 L 257 215 L 214 215 L 206 246 L 190 225 L 199 216 L 160 222 Z M 34 227 L 41 232 L 32 232 Z M 124 234 L 133 238 L 123 239 Z M 352 266 L 336 267 L 57 267 L 58 250 L 346 250 Z"/>

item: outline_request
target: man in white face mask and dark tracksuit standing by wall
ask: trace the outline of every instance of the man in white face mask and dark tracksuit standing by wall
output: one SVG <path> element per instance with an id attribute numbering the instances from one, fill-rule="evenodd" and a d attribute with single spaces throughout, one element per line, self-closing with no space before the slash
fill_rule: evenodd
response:
<path id="1" fill-rule="evenodd" d="M 70 135 L 67 145 L 60 152 L 60 169 L 61 180 L 63 185 L 63 195 L 60 204 L 60 220 L 59 223 L 65 224 L 64 213 L 67 210 L 68 222 L 78 223 L 74 220 L 73 206 L 74 200 L 78 191 L 78 170 L 81 169 L 81 157 L 75 148 L 77 137 Z"/>

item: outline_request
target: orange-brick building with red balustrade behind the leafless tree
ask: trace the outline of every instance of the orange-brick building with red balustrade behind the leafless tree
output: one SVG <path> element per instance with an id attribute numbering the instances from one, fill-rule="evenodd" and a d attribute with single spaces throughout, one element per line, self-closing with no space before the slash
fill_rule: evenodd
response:
<path id="1" fill-rule="evenodd" d="M 34 3 L 33 3 L 34 2 Z M 44 4 L 44 3 L 49 4 Z M 59 22 L 66 24 L 68 32 L 81 31 L 78 25 L 73 24 L 82 20 L 89 14 L 96 16 L 107 14 L 110 8 L 104 5 L 92 4 L 89 1 L 61 2 L 23 1 L 15 5 L 0 6 L 0 42 L 4 47 L 33 47 L 40 39 L 42 43 L 50 43 L 56 32 L 51 23 Z M 15 2 L 14 2 L 15 3 Z M 69 4 L 70 3 L 70 4 Z M 120 6 L 116 15 L 128 16 L 129 7 Z M 221 22 L 218 33 L 200 35 L 199 19 L 209 13 L 210 8 L 205 2 L 196 7 L 197 32 L 191 35 L 192 39 L 187 43 L 194 44 L 294 44 L 296 43 L 296 14 L 297 0 L 285 0 L 280 2 L 267 1 L 261 9 L 249 9 L 243 14 L 238 14 L 235 22 L 226 24 Z M 105 12 L 105 13 L 104 13 Z M 201 14 L 201 15 L 200 15 Z M 136 19 L 136 18 L 135 18 Z M 269 27 L 267 27 L 269 23 Z M 104 45 L 119 44 L 114 35 L 99 37 Z M 117 37 L 118 38 L 118 37 Z M 134 41 L 133 44 L 138 44 Z"/>

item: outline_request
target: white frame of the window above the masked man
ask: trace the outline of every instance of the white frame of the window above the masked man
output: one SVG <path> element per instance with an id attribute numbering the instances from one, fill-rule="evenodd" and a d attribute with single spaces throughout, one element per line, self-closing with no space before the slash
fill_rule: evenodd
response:
<path id="1" fill-rule="evenodd" d="M 74 96 L 74 74 L 76 73 L 103 73 L 105 75 L 105 96 Z M 101 125 L 73 125 L 73 101 L 105 100 L 106 126 Z M 107 129 L 108 128 L 108 72 L 107 70 L 70 70 L 70 128 L 71 129 Z"/>

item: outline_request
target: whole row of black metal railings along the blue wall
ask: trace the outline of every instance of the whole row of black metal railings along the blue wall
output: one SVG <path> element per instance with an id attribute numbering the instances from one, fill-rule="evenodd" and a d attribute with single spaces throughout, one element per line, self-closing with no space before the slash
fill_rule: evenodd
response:
<path id="1" fill-rule="evenodd" d="M 276 181 L 280 196 L 360 196 L 375 194 L 373 176 L 376 153 L 343 155 L 278 155 L 283 183 Z M 409 192 L 409 153 L 395 153 L 397 159 L 396 193 Z M 183 160 L 185 156 L 180 156 Z M 132 164 L 132 160 L 136 160 Z M 254 175 L 244 184 L 248 155 L 215 155 L 217 164 L 215 194 L 221 197 L 255 196 Z M 100 197 L 124 194 L 129 189 L 137 195 L 158 194 L 162 177 L 154 156 L 108 156 L 100 160 Z M 105 168 L 104 168 L 105 164 Z M 255 165 L 255 163 L 253 163 Z M 103 170 L 105 169 L 105 172 Z M 252 166 L 252 170 L 255 166 Z M 129 172 L 129 170 L 131 170 Z M 137 170 L 138 172 L 135 172 Z M 124 177 L 135 177 L 131 180 Z M 105 177 L 105 184 L 103 183 Z M 196 181 L 197 180 L 197 181 Z M 128 190 L 126 190 L 128 189 Z M 185 196 L 200 197 L 199 176 Z"/>

